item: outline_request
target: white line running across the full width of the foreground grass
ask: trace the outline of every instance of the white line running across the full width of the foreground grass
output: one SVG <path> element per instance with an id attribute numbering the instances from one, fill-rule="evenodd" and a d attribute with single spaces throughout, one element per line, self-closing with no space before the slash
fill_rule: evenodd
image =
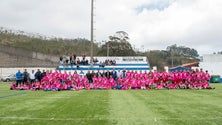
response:
<path id="1" fill-rule="evenodd" d="M 15 117 L 15 116 L 6 116 L 6 117 L 0 117 L 0 119 L 15 119 L 15 120 L 44 120 L 44 121 L 75 121 L 75 120 L 140 120 L 140 119 L 145 119 L 145 120 L 154 120 L 157 122 L 158 120 L 217 120 L 217 119 L 222 119 L 222 117 L 205 117 L 205 118 L 145 118 L 145 117 L 138 117 L 138 118 L 104 118 L 104 117 L 85 117 L 85 118 L 38 118 L 38 117 Z"/>

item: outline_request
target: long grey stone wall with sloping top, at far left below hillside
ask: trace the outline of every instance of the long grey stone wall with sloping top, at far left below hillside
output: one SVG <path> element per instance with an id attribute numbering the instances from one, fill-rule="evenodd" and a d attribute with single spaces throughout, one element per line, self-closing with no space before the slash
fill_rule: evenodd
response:
<path id="1" fill-rule="evenodd" d="M 0 45 L 0 67 L 56 67 L 59 56 L 52 56 Z"/>

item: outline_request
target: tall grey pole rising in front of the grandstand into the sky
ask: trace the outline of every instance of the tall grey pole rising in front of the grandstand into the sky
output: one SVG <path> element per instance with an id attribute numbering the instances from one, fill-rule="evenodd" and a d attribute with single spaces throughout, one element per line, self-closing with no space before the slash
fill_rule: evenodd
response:
<path id="1" fill-rule="evenodd" d="M 91 67 L 93 67 L 93 43 L 94 43 L 94 39 L 93 39 L 93 10 L 94 10 L 94 0 L 91 0 L 91 49 L 90 49 L 90 65 Z"/>

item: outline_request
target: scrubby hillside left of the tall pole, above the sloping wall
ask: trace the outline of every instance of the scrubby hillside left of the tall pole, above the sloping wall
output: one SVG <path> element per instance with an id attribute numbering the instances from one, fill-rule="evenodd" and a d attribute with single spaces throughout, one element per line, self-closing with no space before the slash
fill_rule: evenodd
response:
<path id="1" fill-rule="evenodd" d="M 16 34 L 7 30 L 0 31 L 0 44 L 58 56 L 72 54 L 89 55 L 90 50 L 90 41 L 86 39 L 45 39 L 41 37 L 38 38 L 35 36 Z M 94 50 L 96 53 L 97 45 L 94 45 Z"/>

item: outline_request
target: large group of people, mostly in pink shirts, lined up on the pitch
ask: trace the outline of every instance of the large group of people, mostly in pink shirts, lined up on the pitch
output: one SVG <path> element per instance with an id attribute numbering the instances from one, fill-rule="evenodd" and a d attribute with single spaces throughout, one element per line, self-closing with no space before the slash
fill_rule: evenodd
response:
<path id="1" fill-rule="evenodd" d="M 34 74 L 34 75 L 33 75 Z M 16 73 L 16 83 L 11 90 L 97 90 L 97 89 L 212 89 L 209 85 L 210 75 L 207 71 L 83 71 L 67 73 L 55 70 L 28 74 Z M 23 81 L 23 82 L 22 82 Z"/>

